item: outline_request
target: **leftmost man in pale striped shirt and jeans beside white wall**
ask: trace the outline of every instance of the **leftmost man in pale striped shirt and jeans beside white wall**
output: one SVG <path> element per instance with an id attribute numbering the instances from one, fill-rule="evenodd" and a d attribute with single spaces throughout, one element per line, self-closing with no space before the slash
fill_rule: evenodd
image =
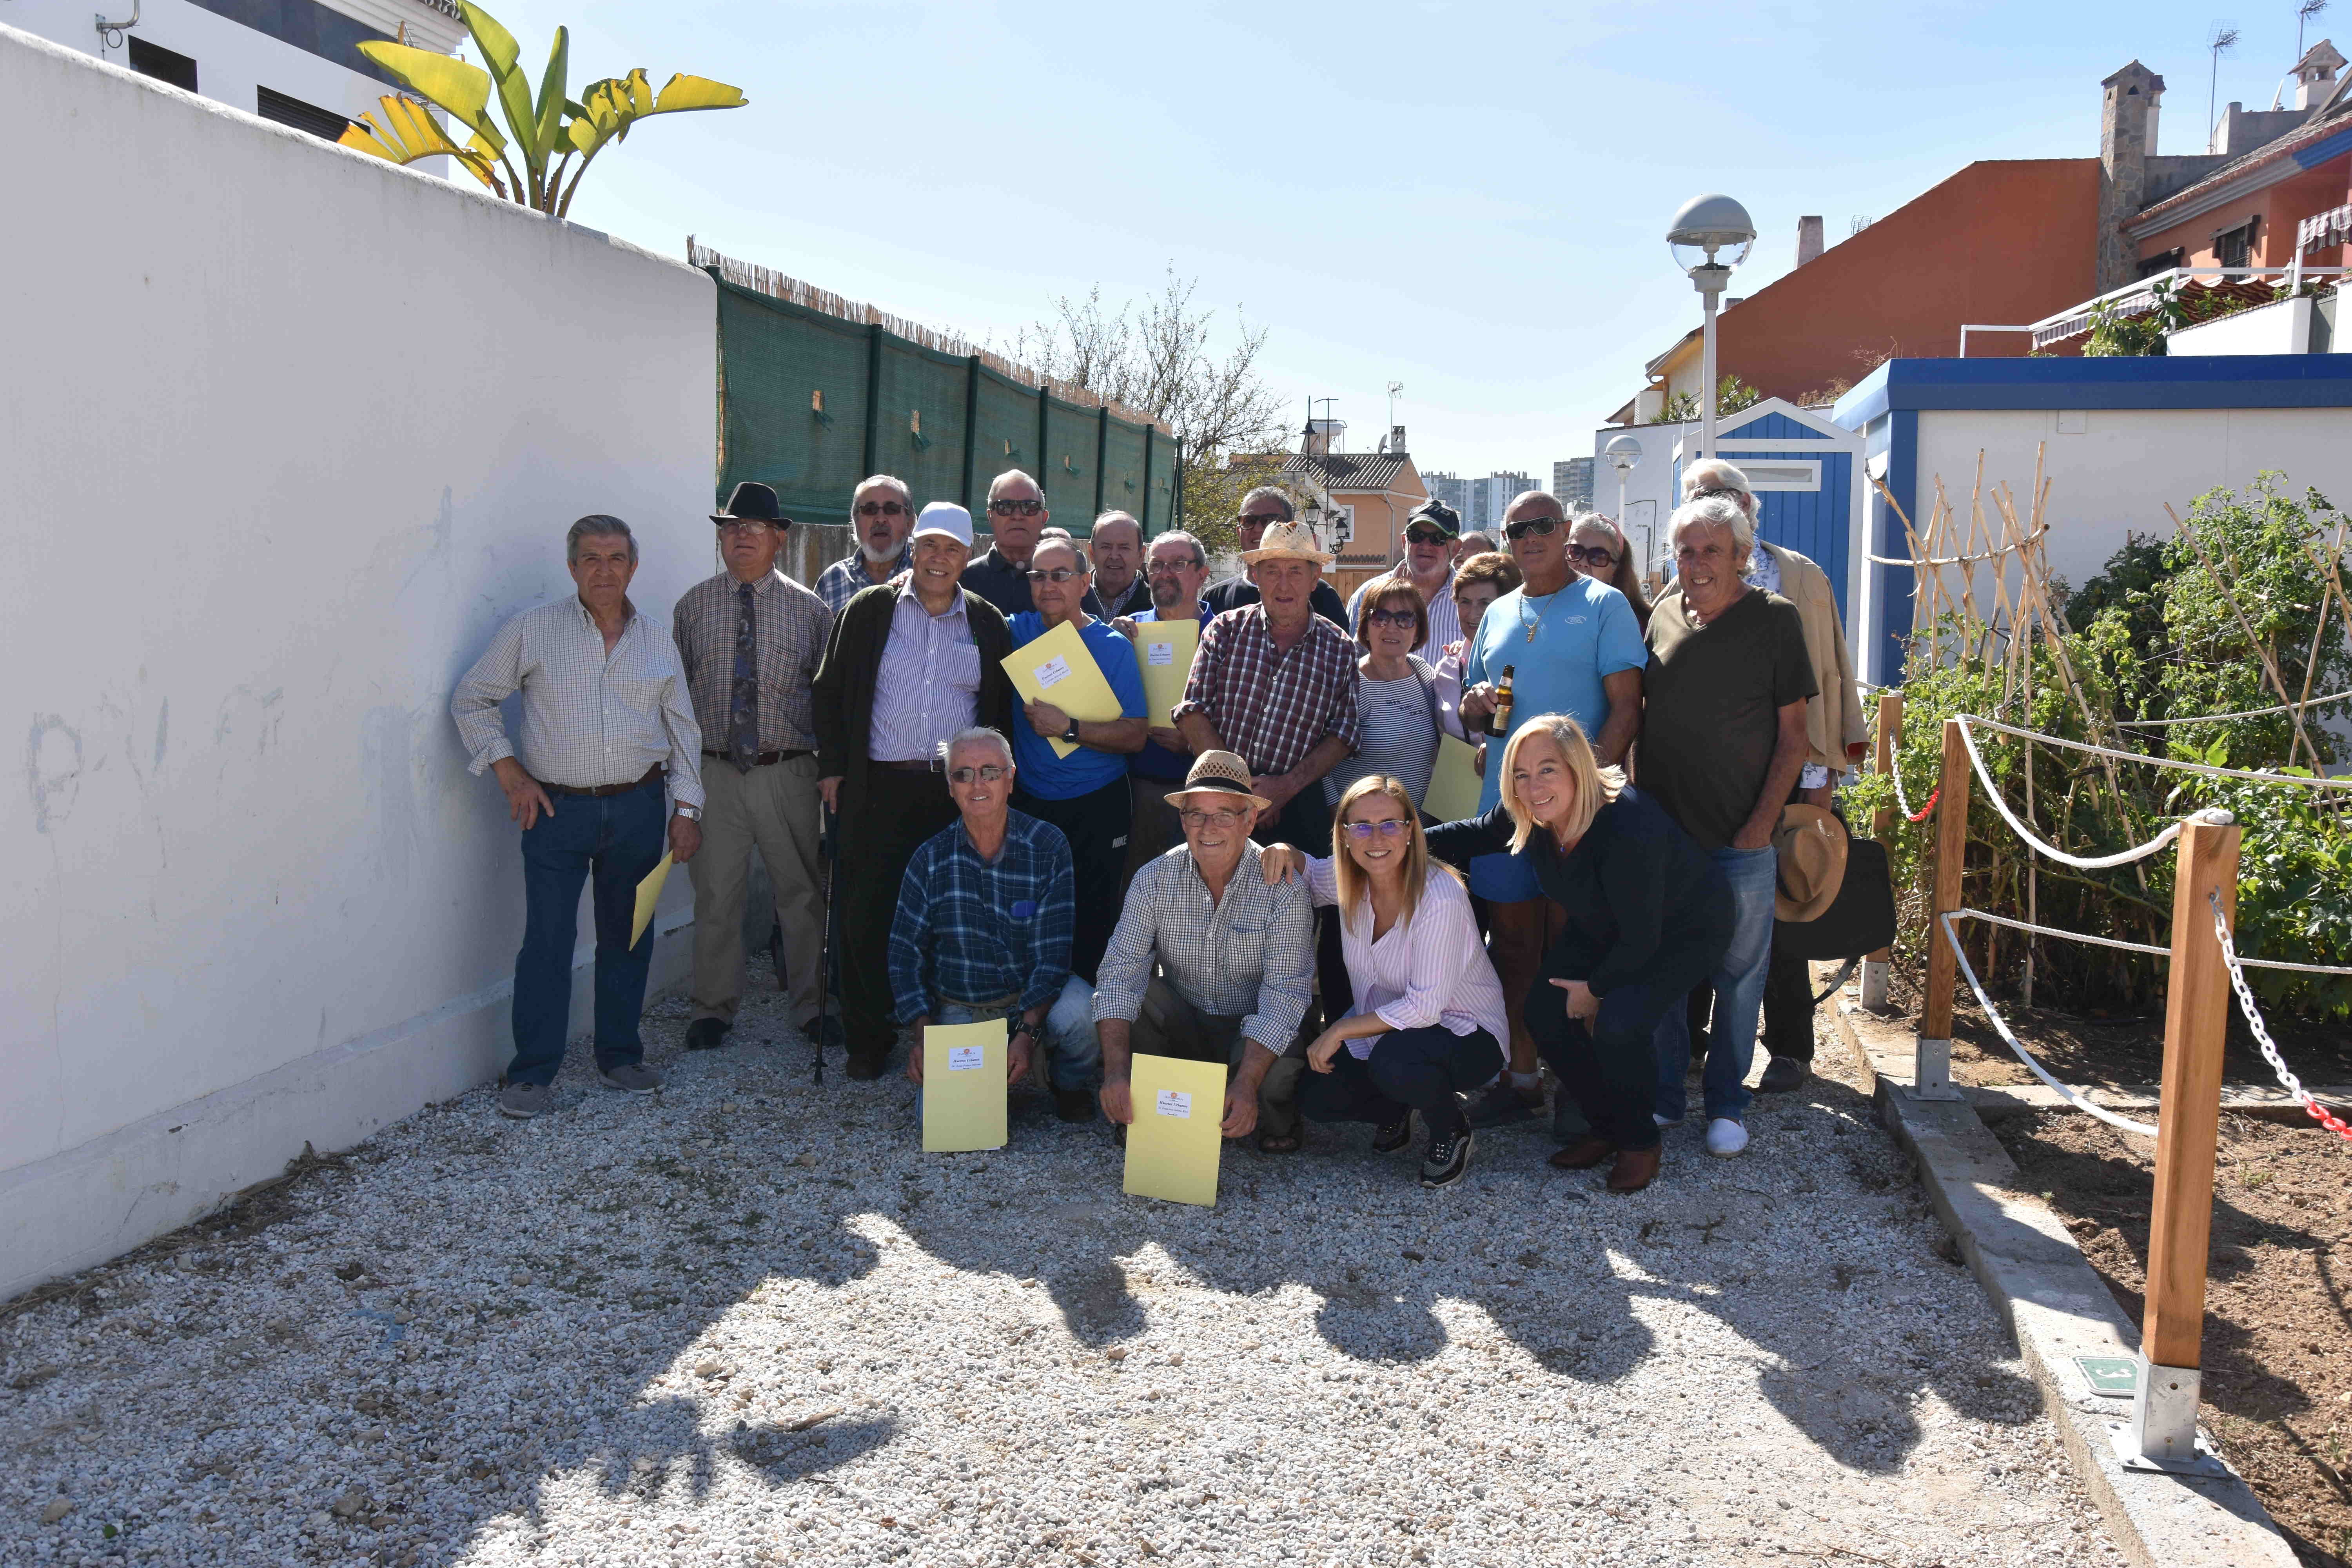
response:
<path id="1" fill-rule="evenodd" d="M 579 592 L 527 609 L 489 639 L 449 698 L 470 769 L 496 771 L 522 823 L 522 952 L 515 954 L 515 1060 L 499 1110 L 553 1105 L 572 1032 L 572 947 L 581 884 L 595 877 L 595 1065 L 612 1088 L 652 1093 L 637 1016 L 652 933 L 628 940 L 637 882 L 661 863 L 663 820 L 677 860 L 701 849 L 703 731 L 670 630 L 628 602 L 637 541 L 619 517 L 581 517 L 564 538 Z M 499 703 L 522 691 L 508 743 Z M 663 809 L 663 773 L 675 811 Z"/>

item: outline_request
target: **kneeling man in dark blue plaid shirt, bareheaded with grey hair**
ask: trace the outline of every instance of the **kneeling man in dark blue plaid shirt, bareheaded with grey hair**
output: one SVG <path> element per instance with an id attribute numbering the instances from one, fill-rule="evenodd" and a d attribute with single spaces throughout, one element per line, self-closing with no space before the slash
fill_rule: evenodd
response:
<path id="1" fill-rule="evenodd" d="M 922 1027 L 1016 1018 L 1007 1081 L 1018 1084 L 1044 1044 L 1056 1114 L 1089 1121 L 1103 1053 L 1094 990 L 1070 973 L 1070 842 L 1011 809 L 1004 736 L 967 729 L 941 750 L 960 820 L 915 849 L 889 926 L 898 1023 L 917 1030 L 906 1074 L 922 1084 Z"/>

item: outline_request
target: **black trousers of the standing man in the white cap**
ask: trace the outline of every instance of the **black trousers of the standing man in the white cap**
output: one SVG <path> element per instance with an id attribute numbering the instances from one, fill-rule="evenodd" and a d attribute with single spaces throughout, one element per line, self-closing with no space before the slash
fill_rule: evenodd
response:
<path id="1" fill-rule="evenodd" d="M 842 1037 L 851 1056 L 884 1056 L 898 1039 L 889 987 L 889 922 L 906 863 L 955 820 L 946 773 L 875 766 L 866 799 L 842 799 L 842 863 L 833 903 L 842 912 Z"/>

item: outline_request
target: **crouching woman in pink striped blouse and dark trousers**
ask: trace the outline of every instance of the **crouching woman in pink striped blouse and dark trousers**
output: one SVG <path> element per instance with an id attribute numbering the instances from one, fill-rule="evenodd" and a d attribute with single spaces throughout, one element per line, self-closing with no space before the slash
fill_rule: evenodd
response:
<path id="1" fill-rule="evenodd" d="M 1298 1114 L 1371 1121 L 1371 1147 L 1402 1150 L 1411 1112 L 1430 1135 L 1423 1187 L 1446 1187 L 1470 1168 L 1470 1121 L 1461 1093 L 1503 1067 L 1503 985 L 1451 867 L 1430 860 L 1421 813 L 1385 773 L 1359 778 L 1331 825 L 1334 858 L 1265 851 L 1268 879 L 1305 865 L 1317 905 L 1341 910 L 1341 952 L 1357 1011 L 1308 1046 Z"/>

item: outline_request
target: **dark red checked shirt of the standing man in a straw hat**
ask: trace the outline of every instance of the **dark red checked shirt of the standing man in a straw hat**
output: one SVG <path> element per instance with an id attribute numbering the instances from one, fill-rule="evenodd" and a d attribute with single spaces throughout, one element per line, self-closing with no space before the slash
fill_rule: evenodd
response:
<path id="1" fill-rule="evenodd" d="M 1343 630 L 1308 616 L 1305 637 L 1284 654 L 1265 607 L 1244 604 L 1200 628 L 1176 717 L 1207 717 L 1251 773 L 1289 773 L 1324 736 L 1357 748 L 1355 686 L 1355 639 Z"/>

